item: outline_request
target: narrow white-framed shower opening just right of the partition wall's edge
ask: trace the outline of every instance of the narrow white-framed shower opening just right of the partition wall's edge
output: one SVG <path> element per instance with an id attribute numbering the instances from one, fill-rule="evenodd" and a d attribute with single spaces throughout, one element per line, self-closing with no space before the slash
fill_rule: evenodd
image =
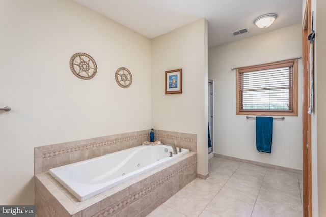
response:
<path id="1" fill-rule="evenodd" d="M 214 156 L 213 80 L 208 79 L 208 159 Z"/>

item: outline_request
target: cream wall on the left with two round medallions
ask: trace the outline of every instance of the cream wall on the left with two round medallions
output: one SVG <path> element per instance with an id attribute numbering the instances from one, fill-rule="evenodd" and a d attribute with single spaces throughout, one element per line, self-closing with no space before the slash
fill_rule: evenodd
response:
<path id="1" fill-rule="evenodd" d="M 0 2 L 0 204 L 34 204 L 34 147 L 151 127 L 151 41 L 73 1 Z M 91 55 L 96 76 L 72 74 Z M 133 76 L 115 81 L 119 67 Z"/>

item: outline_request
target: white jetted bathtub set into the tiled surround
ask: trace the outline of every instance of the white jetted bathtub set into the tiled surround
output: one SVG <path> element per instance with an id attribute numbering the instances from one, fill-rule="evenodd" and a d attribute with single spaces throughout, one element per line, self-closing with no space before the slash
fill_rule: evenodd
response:
<path id="1" fill-rule="evenodd" d="M 178 149 L 179 150 L 179 149 Z M 169 157 L 171 146 L 138 146 L 49 170 L 78 200 L 86 200 L 144 171 L 188 153 Z"/>

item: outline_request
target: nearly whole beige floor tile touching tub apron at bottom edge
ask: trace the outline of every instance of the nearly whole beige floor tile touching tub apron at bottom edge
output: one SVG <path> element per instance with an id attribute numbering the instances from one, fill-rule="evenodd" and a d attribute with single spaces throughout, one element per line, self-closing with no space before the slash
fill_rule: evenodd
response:
<path id="1" fill-rule="evenodd" d="M 199 197 L 182 189 L 167 200 L 164 205 L 169 206 L 178 212 L 188 216 L 199 216 L 210 200 Z"/>

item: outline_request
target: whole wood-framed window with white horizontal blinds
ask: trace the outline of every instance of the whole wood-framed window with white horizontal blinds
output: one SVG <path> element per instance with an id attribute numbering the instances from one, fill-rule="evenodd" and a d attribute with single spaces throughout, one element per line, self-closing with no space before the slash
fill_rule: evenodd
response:
<path id="1" fill-rule="evenodd" d="M 297 59 L 236 70 L 237 114 L 297 116 Z"/>

